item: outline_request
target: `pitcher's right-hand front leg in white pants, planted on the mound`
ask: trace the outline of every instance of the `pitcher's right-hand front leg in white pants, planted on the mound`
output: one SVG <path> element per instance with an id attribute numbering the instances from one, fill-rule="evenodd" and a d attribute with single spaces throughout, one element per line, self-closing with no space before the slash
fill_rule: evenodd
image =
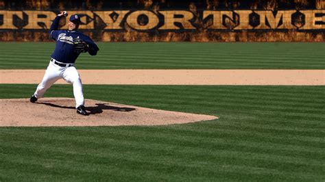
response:
<path id="1" fill-rule="evenodd" d="M 73 85 L 73 95 L 75 96 L 75 108 L 84 105 L 84 92 L 82 90 L 82 81 L 77 69 L 70 66 L 62 73 L 62 77 L 68 83 Z"/>

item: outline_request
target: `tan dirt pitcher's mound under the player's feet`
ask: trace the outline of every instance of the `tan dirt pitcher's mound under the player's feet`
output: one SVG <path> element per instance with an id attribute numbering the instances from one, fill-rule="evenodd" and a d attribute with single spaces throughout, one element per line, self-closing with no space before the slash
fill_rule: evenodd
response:
<path id="1" fill-rule="evenodd" d="M 217 119 L 89 99 L 89 116 L 82 116 L 76 113 L 75 100 L 70 98 L 43 98 L 36 103 L 29 99 L 0 99 L 0 109 L 0 127 L 171 125 Z"/>

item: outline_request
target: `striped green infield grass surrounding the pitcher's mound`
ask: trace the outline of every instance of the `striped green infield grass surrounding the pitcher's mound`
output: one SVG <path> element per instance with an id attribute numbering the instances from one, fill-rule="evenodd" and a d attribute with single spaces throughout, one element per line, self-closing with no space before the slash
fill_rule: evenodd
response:
<path id="1" fill-rule="evenodd" d="M 2 84 L 1 98 L 29 98 L 35 88 Z M 87 99 L 220 118 L 160 127 L 2 127 L 0 181 L 324 181 L 324 92 L 86 85 Z M 53 86 L 45 96 L 73 97 L 72 86 Z"/>

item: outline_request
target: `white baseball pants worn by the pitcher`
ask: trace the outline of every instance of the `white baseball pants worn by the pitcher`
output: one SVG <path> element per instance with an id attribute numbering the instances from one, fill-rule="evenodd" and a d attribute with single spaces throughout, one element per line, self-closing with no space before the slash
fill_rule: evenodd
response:
<path id="1" fill-rule="evenodd" d="M 64 79 L 73 85 L 75 108 L 79 107 L 80 105 L 84 105 L 82 81 L 75 66 L 61 67 L 54 64 L 52 61 L 49 62 L 49 66 L 47 66 L 43 80 L 40 84 L 38 84 L 34 96 L 36 96 L 37 99 L 42 98 L 46 90 L 49 89 L 53 83 L 58 81 L 58 79 Z"/>

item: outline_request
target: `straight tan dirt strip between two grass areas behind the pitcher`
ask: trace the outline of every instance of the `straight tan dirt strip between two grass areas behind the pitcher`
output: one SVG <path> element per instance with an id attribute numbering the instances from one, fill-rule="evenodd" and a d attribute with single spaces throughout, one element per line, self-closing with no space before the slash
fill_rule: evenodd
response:
<path id="1" fill-rule="evenodd" d="M 84 84 L 324 86 L 325 70 L 78 70 Z M 39 83 L 45 70 L 0 70 L 0 83 Z M 66 83 L 63 80 L 57 83 Z"/>

